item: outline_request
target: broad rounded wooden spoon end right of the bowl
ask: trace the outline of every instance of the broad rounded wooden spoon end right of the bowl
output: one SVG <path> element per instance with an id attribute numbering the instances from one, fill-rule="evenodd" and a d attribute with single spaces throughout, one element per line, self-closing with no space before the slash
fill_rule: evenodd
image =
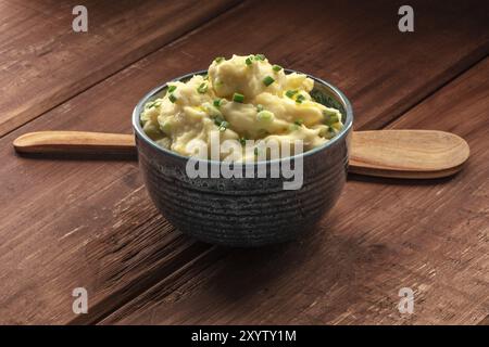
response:
<path id="1" fill-rule="evenodd" d="M 468 159 L 464 139 L 438 130 L 353 131 L 349 171 L 406 179 L 454 175 Z"/>

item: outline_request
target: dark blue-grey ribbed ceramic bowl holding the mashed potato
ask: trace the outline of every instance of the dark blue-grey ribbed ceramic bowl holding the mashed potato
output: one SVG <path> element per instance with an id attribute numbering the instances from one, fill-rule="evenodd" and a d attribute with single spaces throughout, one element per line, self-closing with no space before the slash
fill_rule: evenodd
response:
<path id="1" fill-rule="evenodd" d="M 175 80 L 205 73 L 197 72 Z M 314 98 L 340 110 L 344 127 L 324 145 L 299 154 L 303 159 L 303 185 L 299 190 L 284 190 L 287 181 L 284 178 L 190 179 L 186 174 L 188 157 L 159 146 L 140 124 L 145 104 L 164 94 L 166 83 L 139 101 L 133 113 L 139 166 L 153 203 L 175 228 L 212 244 L 262 246 L 300 237 L 333 208 L 347 179 L 353 112 L 336 87 L 309 77 L 315 82 Z M 220 165 L 213 160 L 204 163 Z M 271 163 L 261 164 L 269 166 Z M 255 169 L 258 165 L 254 164 Z"/>

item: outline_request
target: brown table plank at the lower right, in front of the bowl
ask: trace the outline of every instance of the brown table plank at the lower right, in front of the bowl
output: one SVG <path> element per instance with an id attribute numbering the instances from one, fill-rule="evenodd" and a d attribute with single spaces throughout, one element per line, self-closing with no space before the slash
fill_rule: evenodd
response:
<path id="1" fill-rule="evenodd" d="M 264 252 L 200 261 L 103 323 L 476 324 L 489 313 L 489 59 L 389 128 L 453 131 L 471 144 L 453 179 L 348 182 L 321 230 Z M 463 117 L 461 117 L 463 115 Z M 399 290 L 414 291 L 401 314 Z"/>

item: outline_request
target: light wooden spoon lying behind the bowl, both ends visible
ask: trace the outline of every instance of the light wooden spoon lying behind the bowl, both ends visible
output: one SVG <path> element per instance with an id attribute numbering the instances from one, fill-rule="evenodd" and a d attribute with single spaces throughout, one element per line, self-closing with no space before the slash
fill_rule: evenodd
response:
<path id="1" fill-rule="evenodd" d="M 15 139 L 13 145 L 20 153 L 136 153 L 133 134 L 102 132 L 30 132 Z M 349 171 L 391 178 L 440 178 L 461 170 L 468 154 L 465 140 L 444 131 L 353 131 Z"/>

